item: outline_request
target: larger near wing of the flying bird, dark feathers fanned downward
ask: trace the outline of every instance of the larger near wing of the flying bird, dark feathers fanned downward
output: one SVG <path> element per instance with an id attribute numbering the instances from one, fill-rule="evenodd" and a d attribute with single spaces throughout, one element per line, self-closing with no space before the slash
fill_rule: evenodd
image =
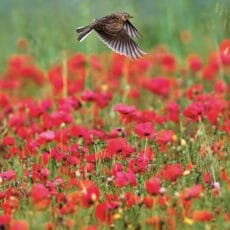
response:
<path id="1" fill-rule="evenodd" d="M 122 29 L 116 36 L 109 35 L 103 30 L 95 29 L 99 38 L 113 51 L 133 59 L 142 57 L 145 52 L 129 36 L 125 29 Z"/>

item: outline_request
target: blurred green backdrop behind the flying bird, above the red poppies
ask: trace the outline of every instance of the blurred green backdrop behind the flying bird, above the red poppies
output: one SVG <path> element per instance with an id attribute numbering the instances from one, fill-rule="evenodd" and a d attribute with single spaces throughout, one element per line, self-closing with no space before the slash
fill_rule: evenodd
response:
<path id="1" fill-rule="evenodd" d="M 138 43 L 147 52 L 165 44 L 176 55 L 216 47 L 230 37 L 229 0 L 0 0 L 0 68 L 18 44 L 28 41 L 27 52 L 48 67 L 63 51 L 111 52 L 92 33 L 84 42 L 75 29 L 116 11 L 127 11 L 143 35 Z"/>

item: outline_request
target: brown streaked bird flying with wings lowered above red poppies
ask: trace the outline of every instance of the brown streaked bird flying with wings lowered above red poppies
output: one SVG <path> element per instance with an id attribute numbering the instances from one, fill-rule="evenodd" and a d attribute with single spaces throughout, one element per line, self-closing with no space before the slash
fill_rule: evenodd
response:
<path id="1" fill-rule="evenodd" d="M 126 12 L 118 12 L 94 19 L 88 26 L 76 29 L 78 41 L 83 41 L 94 30 L 101 41 L 114 52 L 131 59 L 141 58 L 146 53 L 133 40 L 135 37 L 140 37 L 140 33 L 130 22 L 132 18 Z"/>

